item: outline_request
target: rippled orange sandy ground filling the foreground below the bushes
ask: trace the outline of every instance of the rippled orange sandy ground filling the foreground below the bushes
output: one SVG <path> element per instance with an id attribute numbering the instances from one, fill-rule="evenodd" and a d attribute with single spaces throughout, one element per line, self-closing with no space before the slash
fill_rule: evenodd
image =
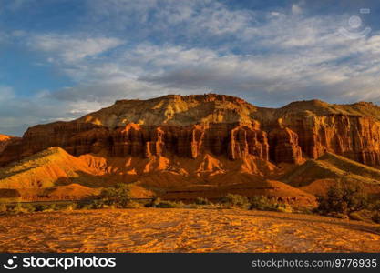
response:
<path id="1" fill-rule="evenodd" d="M 328 217 L 115 209 L 0 217 L 1 252 L 379 252 L 380 233 Z"/>

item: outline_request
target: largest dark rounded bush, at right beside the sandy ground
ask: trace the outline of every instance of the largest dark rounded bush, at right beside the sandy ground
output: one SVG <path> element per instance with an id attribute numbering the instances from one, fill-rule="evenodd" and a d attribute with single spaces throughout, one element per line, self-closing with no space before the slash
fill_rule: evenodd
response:
<path id="1" fill-rule="evenodd" d="M 339 183 L 329 188 L 326 197 L 318 197 L 317 210 L 323 213 L 349 214 L 367 207 L 367 196 L 363 185 Z"/>

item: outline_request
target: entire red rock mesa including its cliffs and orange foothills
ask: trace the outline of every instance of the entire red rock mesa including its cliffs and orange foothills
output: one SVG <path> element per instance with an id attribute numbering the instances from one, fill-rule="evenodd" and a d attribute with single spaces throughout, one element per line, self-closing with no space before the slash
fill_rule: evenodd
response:
<path id="1" fill-rule="evenodd" d="M 380 193 L 380 107 L 311 100 L 274 109 L 216 94 L 119 100 L 30 127 L 0 165 L 8 195 L 121 182 L 166 198 L 231 192 L 311 205 L 343 177 Z"/>

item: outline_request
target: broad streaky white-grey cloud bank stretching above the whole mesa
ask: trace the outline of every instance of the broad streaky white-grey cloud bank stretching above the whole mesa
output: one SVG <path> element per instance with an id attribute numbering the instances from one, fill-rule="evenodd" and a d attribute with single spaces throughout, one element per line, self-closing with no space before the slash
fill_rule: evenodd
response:
<path id="1" fill-rule="evenodd" d="M 346 15 L 306 16 L 302 2 L 268 12 L 229 9 L 211 0 L 87 5 L 81 24 L 89 31 L 16 35 L 74 84 L 22 99 L 7 93 L 0 100 L 0 114 L 7 116 L 0 128 L 20 132 L 26 125 L 85 115 L 116 99 L 173 93 L 213 91 L 258 106 L 315 97 L 380 103 L 380 35 L 345 38 L 338 29 Z M 9 90 L 0 87 L 0 95 Z"/>

